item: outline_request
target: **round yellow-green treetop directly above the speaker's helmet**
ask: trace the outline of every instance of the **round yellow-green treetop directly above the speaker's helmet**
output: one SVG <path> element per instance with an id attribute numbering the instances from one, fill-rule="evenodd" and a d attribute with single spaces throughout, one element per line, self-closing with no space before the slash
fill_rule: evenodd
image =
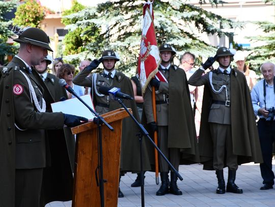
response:
<path id="1" fill-rule="evenodd" d="M 34 0 L 26 0 L 17 7 L 13 23 L 19 26 L 40 28 L 40 22 L 45 18 L 45 8 Z"/>

